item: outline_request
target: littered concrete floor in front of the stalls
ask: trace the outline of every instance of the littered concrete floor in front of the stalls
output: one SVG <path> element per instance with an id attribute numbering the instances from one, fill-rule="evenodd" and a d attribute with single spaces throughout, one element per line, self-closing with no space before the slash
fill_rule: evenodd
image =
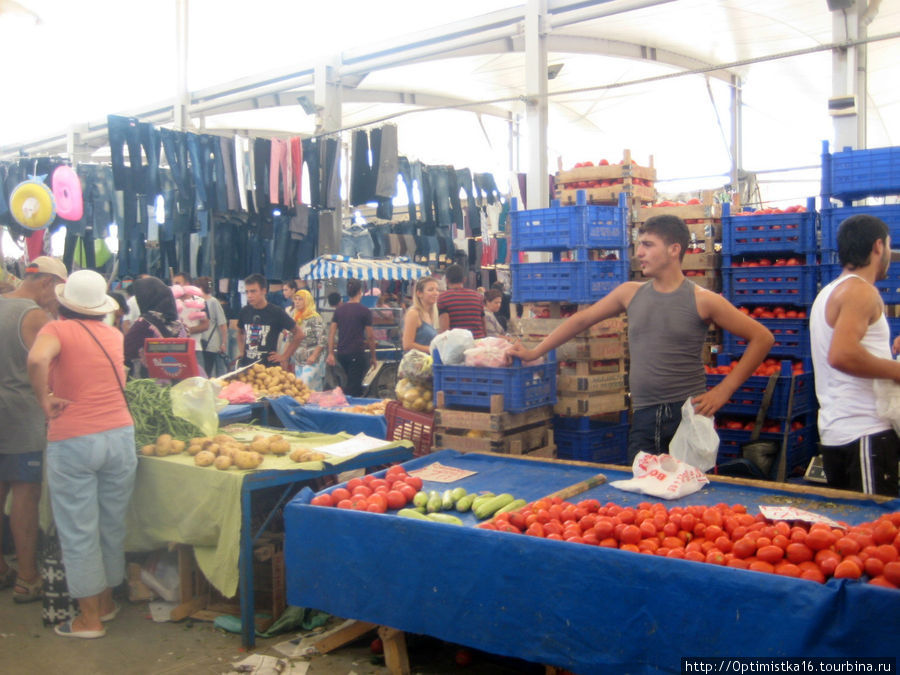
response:
<path id="1" fill-rule="evenodd" d="M 275 646 L 299 634 L 257 639 L 254 653 L 283 654 Z M 375 634 L 327 655 L 295 659 L 298 666 L 309 661 L 310 675 L 382 675 L 383 661 L 372 654 L 369 644 Z M 513 675 L 543 673 L 534 664 L 472 653 L 472 664 L 455 663 L 457 647 L 431 638 L 408 636 L 410 666 L 423 675 L 470 673 Z M 4 675 L 66 673 L 66 675 L 143 675 L 232 672 L 231 664 L 248 656 L 239 635 L 229 634 L 201 621 L 154 623 L 146 602 L 122 603 L 119 616 L 107 624 L 106 637 L 97 640 L 61 638 L 41 622 L 41 603 L 17 605 L 12 590 L 0 591 L 0 672 Z M 302 671 L 301 671 L 302 672 Z"/>

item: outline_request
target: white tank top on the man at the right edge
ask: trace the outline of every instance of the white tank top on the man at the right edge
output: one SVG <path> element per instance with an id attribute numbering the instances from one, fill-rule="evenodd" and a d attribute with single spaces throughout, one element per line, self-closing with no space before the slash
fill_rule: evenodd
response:
<path id="1" fill-rule="evenodd" d="M 809 315 L 810 343 L 819 399 L 819 438 L 823 445 L 845 445 L 856 439 L 890 429 L 890 423 L 875 412 L 875 380 L 848 375 L 828 364 L 828 349 L 834 329 L 825 320 L 825 305 L 834 289 L 856 274 L 838 277 L 816 297 Z M 873 356 L 891 356 L 891 332 L 882 312 L 869 326 L 860 344 Z"/>

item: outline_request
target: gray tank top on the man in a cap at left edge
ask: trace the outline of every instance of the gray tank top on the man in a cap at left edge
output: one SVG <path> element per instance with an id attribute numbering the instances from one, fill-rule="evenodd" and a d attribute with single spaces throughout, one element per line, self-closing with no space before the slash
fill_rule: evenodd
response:
<path id="1" fill-rule="evenodd" d="M 28 379 L 28 350 L 22 319 L 37 304 L 26 298 L 0 297 L 0 454 L 41 452 L 47 447 L 44 411 Z"/>

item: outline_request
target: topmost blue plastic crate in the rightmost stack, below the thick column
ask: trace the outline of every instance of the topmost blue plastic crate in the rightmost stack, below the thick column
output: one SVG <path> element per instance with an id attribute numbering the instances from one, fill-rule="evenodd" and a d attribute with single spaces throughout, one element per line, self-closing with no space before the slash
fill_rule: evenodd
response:
<path id="1" fill-rule="evenodd" d="M 900 147 L 829 154 L 822 143 L 822 195 L 841 201 L 900 192 Z"/>

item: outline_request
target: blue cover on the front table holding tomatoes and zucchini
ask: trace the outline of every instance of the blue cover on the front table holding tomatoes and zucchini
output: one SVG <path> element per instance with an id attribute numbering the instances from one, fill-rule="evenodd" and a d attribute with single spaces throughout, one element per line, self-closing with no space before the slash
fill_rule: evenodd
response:
<path id="1" fill-rule="evenodd" d="M 478 473 L 451 484 L 528 500 L 604 473 L 445 450 L 431 462 Z M 446 489 L 427 483 L 425 489 Z M 285 508 L 288 601 L 424 633 L 488 652 L 587 673 L 681 672 L 682 657 L 900 656 L 900 592 L 861 581 L 827 584 L 466 527 L 315 507 L 306 489 Z M 858 523 L 900 500 L 798 494 L 714 482 L 671 502 L 794 505 Z M 775 498 L 774 500 L 772 498 Z M 573 501 L 658 501 L 601 485 Z"/>

